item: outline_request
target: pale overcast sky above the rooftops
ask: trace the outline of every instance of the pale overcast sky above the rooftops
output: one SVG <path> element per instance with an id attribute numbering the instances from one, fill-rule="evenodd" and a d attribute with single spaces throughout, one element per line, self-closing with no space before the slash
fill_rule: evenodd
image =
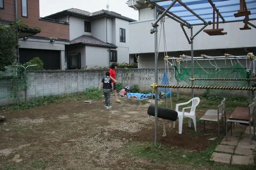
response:
<path id="1" fill-rule="evenodd" d="M 65 9 L 77 8 L 88 12 L 96 12 L 106 9 L 109 3 L 109 11 L 120 13 L 123 16 L 138 20 L 138 11 L 125 4 L 127 0 L 40 0 L 40 17 L 45 17 Z"/>

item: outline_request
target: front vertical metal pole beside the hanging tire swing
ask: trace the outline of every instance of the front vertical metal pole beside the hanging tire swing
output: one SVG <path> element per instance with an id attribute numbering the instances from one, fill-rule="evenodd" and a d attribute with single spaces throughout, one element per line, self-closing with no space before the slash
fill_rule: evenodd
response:
<path id="1" fill-rule="evenodd" d="M 157 6 L 154 8 L 155 21 L 157 20 Z M 157 69 L 157 30 L 155 31 L 155 83 L 158 83 L 158 69 Z M 157 146 L 157 111 L 158 111 L 158 89 L 155 89 L 155 146 Z"/>

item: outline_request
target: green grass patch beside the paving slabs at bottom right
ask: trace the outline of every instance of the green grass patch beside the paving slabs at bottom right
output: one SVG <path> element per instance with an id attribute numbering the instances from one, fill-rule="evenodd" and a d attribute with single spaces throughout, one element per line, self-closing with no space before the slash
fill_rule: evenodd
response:
<path id="1" fill-rule="evenodd" d="M 193 153 L 188 150 L 177 149 L 175 147 L 165 147 L 163 145 L 154 146 L 154 143 L 132 142 L 127 145 L 127 153 L 136 155 L 140 158 L 150 159 L 152 162 L 164 164 L 170 162 L 179 165 L 179 169 L 232 169 L 232 170 L 255 170 L 256 165 L 232 166 L 218 165 L 210 161 L 211 155 L 216 146 L 220 143 L 217 139 L 207 150 L 202 153 Z"/>

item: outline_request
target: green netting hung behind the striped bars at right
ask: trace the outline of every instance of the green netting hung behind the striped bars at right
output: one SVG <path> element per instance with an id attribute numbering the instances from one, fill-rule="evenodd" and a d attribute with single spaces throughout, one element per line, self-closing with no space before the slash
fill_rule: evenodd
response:
<path id="1" fill-rule="evenodd" d="M 178 82 L 186 82 L 191 85 L 191 66 L 190 63 L 182 62 L 179 66 L 174 66 L 175 78 Z M 250 72 L 240 64 L 228 60 L 201 60 L 194 62 L 193 78 L 250 78 Z M 248 81 L 210 81 L 210 80 L 195 80 L 194 85 L 197 86 L 234 86 L 234 87 L 248 87 Z M 230 92 L 232 90 L 207 90 L 207 92 L 214 92 L 220 94 L 222 92 Z"/>

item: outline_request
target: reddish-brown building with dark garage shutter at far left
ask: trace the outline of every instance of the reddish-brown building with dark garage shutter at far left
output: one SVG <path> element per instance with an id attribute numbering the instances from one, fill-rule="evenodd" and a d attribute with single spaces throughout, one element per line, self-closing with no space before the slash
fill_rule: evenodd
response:
<path id="1" fill-rule="evenodd" d="M 49 70 L 65 70 L 65 44 L 69 44 L 68 21 L 46 19 L 39 16 L 39 0 L 16 0 L 18 19 L 31 28 L 19 35 L 19 60 L 25 63 L 34 57 L 44 62 Z M 0 23 L 15 21 L 15 0 L 0 0 Z"/>

